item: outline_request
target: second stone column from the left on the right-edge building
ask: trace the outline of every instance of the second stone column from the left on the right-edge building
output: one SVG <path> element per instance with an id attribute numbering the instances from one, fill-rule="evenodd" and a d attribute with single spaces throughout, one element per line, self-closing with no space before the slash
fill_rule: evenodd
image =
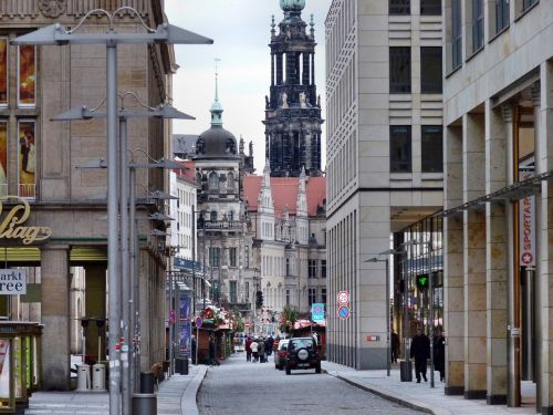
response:
<path id="1" fill-rule="evenodd" d="M 466 114 L 463 129 L 463 201 L 486 191 L 484 122 Z M 472 207 L 463 212 L 465 397 L 486 398 L 486 215 Z"/>

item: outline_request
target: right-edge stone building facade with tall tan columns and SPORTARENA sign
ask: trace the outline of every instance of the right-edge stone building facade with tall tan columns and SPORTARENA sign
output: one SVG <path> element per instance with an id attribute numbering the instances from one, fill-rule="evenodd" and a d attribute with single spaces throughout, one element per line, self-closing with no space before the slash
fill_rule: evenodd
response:
<path id="1" fill-rule="evenodd" d="M 519 406 L 533 380 L 542 414 L 553 413 L 552 10 L 444 10 L 446 393 Z"/>

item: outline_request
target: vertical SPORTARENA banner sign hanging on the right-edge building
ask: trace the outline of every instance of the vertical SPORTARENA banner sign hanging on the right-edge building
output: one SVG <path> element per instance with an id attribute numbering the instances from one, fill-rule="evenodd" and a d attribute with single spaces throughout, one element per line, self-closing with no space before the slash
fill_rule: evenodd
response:
<path id="1" fill-rule="evenodd" d="M 520 179 L 528 180 L 532 172 L 520 172 Z M 520 264 L 535 267 L 535 200 L 528 196 L 519 200 Z"/>

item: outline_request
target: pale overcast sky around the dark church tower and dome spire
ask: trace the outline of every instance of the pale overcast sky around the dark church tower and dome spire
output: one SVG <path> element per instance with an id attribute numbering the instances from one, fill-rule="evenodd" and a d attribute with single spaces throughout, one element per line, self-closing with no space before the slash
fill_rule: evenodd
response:
<path id="1" fill-rule="evenodd" d="M 306 0 L 302 18 L 315 22 L 315 82 L 325 114 L 324 20 L 332 0 Z M 264 165 L 264 96 L 271 82 L 271 15 L 282 21 L 279 0 L 165 0 L 171 24 L 213 40 L 212 45 L 175 45 L 174 105 L 196 121 L 175 121 L 175 134 L 200 134 L 210 127 L 209 108 L 215 98 L 215 59 L 220 59 L 219 101 L 225 110 L 223 128 L 253 142 L 257 173 Z M 278 31 L 278 27 L 275 28 Z M 309 27 L 307 27 L 309 29 Z M 323 169 L 326 165 L 323 124 Z"/>

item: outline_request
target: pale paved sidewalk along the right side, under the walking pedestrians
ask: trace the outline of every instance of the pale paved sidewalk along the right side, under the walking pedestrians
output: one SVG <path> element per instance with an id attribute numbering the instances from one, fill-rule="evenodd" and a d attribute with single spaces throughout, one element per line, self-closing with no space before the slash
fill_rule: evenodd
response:
<path id="1" fill-rule="evenodd" d="M 487 405 L 483 400 L 469 401 L 462 396 L 447 396 L 444 393 L 444 383 L 439 381 L 438 372 L 436 372 L 436 387 L 431 388 L 430 376 L 428 376 L 428 383 L 401 382 L 398 365 L 394 365 L 389 377 L 386 375 L 386 370 L 356 371 L 348 366 L 324 361 L 322 366 L 327 374 L 352 385 L 429 414 L 535 414 L 535 386 L 531 382 L 522 383 L 523 406 L 510 408 L 505 405 Z"/>

